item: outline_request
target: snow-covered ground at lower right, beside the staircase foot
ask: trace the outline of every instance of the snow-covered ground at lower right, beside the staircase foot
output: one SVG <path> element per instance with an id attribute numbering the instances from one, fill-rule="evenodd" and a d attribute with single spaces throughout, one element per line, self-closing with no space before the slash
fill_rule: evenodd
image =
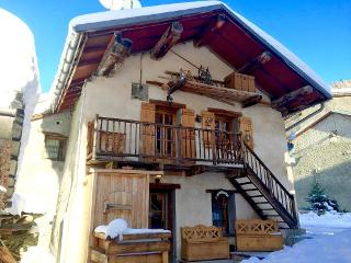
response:
<path id="1" fill-rule="evenodd" d="M 351 213 L 329 211 L 322 216 L 315 213 L 301 214 L 302 228 L 309 239 L 294 247 L 269 254 L 264 260 L 251 258 L 245 263 L 350 263 Z"/>

